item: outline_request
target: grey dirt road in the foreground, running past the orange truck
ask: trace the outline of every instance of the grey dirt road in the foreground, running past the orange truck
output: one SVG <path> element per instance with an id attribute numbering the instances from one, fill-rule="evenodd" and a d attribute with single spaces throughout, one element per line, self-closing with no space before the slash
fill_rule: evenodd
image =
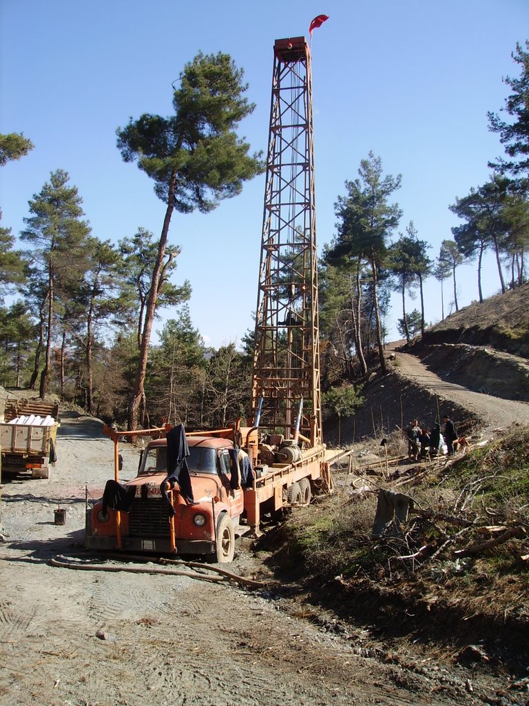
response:
<path id="1" fill-rule="evenodd" d="M 277 588 L 50 566 L 80 551 L 85 489 L 101 495 L 113 446 L 99 421 L 70 413 L 57 453 L 49 480 L 4 481 L 1 705 L 517 703 L 501 676 L 449 668 L 427 652 L 391 657 L 362 626 L 341 626 Z M 133 477 L 138 452 L 123 455 L 122 477 Z M 63 526 L 54 524 L 58 503 Z M 270 578 L 248 542 L 233 570 Z"/>

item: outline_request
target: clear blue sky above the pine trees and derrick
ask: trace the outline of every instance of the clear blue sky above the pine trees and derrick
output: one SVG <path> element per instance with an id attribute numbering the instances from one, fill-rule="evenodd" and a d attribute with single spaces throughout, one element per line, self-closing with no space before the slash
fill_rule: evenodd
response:
<path id="1" fill-rule="evenodd" d="M 240 134 L 266 150 L 274 40 L 308 36 L 320 13 L 329 20 L 312 41 L 319 250 L 334 235 L 344 181 L 372 150 L 385 174 L 402 174 L 400 231 L 413 220 L 436 257 L 458 225 L 449 204 L 487 181 L 487 161 L 503 154 L 487 111 L 504 106 L 502 78 L 518 75 L 511 52 L 528 37 L 528 0 L 0 0 L 0 132 L 35 144 L 0 170 L 2 225 L 18 234 L 30 198 L 65 169 L 95 236 L 117 241 L 138 227 L 158 236 L 164 204 L 121 160 L 116 128 L 143 112 L 170 114 L 184 64 L 222 51 L 244 68 L 257 104 Z M 215 347 L 253 328 L 264 189 L 257 177 L 213 213 L 171 222 L 170 241 L 182 246 L 176 281 L 190 280 L 193 324 Z M 499 289 L 490 256 L 484 282 L 485 295 Z M 458 303 L 477 297 L 475 265 L 463 266 Z M 445 312 L 451 299 L 445 285 Z M 435 280 L 425 309 L 439 321 Z M 390 339 L 399 316 L 394 297 Z"/>

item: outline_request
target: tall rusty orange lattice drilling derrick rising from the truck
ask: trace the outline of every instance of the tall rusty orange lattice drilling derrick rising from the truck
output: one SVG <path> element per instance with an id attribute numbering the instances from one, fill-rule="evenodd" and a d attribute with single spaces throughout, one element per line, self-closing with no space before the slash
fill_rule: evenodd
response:
<path id="1" fill-rule="evenodd" d="M 261 429 L 322 442 L 310 49 L 276 40 L 255 318 Z"/>

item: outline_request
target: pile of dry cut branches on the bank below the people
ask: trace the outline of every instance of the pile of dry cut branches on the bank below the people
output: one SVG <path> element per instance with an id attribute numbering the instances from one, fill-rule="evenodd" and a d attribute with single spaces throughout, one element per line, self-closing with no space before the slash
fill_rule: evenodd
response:
<path id="1" fill-rule="evenodd" d="M 506 448 L 509 440 L 492 445 L 464 480 L 458 479 L 457 461 L 446 460 L 436 467 L 420 465 L 395 471 L 386 478 L 377 473 L 380 478 L 375 480 L 371 471 L 354 479 L 348 502 L 388 491 L 390 496 L 407 501 L 407 519 L 395 517 L 382 535 L 371 538 L 373 554 L 382 554 L 387 560 L 388 578 L 395 572 L 418 573 L 436 561 L 451 561 L 454 570 L 461 571 L 475 558 L 492 556 L 494 550 L 499 550 L 507 563 L 529 568 L 528 498 L 520 494 L 487 505 L 487 490 L 512 483 L 512 477 L 501 473 Z M 405 494 L 407 489 L 409 495 Z"/>

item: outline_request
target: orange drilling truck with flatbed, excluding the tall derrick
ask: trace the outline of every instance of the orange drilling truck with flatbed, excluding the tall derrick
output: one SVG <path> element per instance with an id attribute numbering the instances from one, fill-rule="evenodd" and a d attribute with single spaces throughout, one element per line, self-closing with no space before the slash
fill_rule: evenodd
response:
<path id="1" fill-rule="evenodd" d="M 236 536 L 259 534 L 262 515 L 308 505 L 312 489 L 327 489 L 331 483 L 322 444 L 303 449 L 277 434 L 264 436 L 260 444 L 258 430 L 248 427 L 192 432 L 186 435 L 190 501 L 178 481 L 171 486 L 167 480 L 169 430 L 134 432 L 160 438 L 152 438 L 142 451 L 138 475 L 120 484 L 125 510 L 105 507 L 104 498 L 87 508 L 88 549 L 197 554 L 229 562 Z M 132 433 L 108 427 L 105 433 L 114 441 L 118 482 L 118 440 Z M 243 439 L 244 448 L 236 448 L 234 436 Z M 269 463 L 255 463 L 261 451 Z M 241 474 L 241 456 L 254 461 L 247 464 L 252 468 L 249 476 Z"/>

